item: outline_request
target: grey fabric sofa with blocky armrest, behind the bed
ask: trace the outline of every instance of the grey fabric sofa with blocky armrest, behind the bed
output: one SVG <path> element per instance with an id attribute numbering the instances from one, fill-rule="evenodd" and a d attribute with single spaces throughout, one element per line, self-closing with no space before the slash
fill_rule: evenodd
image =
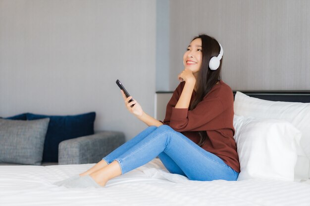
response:
<path id="1" fill-rule="evenodd" d="M 64 140 L 58 146 L 58 163 L 42 163 L 42 165 L 98 163 L 124 142 L 125 135 L 117 131 L 98 131 L 93 135 Z M 0 163 L 0 165 L 18 164 Z"/>

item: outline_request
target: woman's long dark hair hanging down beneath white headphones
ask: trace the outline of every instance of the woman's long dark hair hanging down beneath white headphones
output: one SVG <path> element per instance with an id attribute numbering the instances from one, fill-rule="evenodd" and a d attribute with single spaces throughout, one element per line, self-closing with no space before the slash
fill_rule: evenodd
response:
<path id="1" fill-rule="evenodd" d="M 220 60 L 220 65 L 217 70 L 210 70 L 209 61 L 213 56 L 218 56 L 220 52 L 220 46 L 218 41 L 214 38 L 209 37 L 205 34 L 201 34 L 195 37 L 192 41 L 200 38 L 202 41 L 202 64 L 199 71 L 198 79 L 196 82 L 197 91 L 196 96 L 191 103 L 190 110 L 193 110 L 199 102 L 203 100 L 203 98 L 207 95 L 210 89 L 221 80 L 221 67 L 222 67 L 222 59 Z M 199 146 L 202 146 L 207 139 L 206 131 L 199 131 L 200 141 L 198 143 Z"/>

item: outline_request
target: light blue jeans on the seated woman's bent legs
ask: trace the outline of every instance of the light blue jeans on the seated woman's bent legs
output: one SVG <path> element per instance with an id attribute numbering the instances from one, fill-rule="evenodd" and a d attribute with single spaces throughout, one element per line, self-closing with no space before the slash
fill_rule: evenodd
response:
<path id="1" fill-rule="evenodd" d="M 124 174 L 157 156 L 169 172 L 187 176 L 190 180 L 236 180 L 239 174 L 222 159 L 167 125 L 149 126 L 103 160 L 107 164 L 117 161 Z"/>

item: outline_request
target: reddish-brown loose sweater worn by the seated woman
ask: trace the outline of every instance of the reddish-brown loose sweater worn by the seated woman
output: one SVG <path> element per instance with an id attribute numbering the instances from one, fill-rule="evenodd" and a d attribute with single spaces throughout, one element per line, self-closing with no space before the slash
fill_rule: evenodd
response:
<path id="1" fill-rule="evenodd" d="M 231 88 L 220 80 L 191 111 L 174 108 L 184 85 L 185 82 L 181 82 L 173 92 L 167 104 L 163 124 L 181 132 L 196 144 L 200 141 L 198 131 L 207 131 L 207 139 L 202 148 L 221 158 L 235 171 L 240 172 L 237 146 L 233 138 L 235 133 L 234 98 Z M 195 95 L 193 91 L 191 103 Z"/>

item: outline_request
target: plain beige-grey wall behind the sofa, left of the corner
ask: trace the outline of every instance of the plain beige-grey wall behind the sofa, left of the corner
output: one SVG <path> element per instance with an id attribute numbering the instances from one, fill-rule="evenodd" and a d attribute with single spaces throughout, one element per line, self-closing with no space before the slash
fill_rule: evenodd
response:
<path id="1" fill-rule="evenodd" d="M 132 138 L 115 81 L 154 115 L 155 21 L 155 0 L 0 0 L 0 116 L 96 111 Z"/>

